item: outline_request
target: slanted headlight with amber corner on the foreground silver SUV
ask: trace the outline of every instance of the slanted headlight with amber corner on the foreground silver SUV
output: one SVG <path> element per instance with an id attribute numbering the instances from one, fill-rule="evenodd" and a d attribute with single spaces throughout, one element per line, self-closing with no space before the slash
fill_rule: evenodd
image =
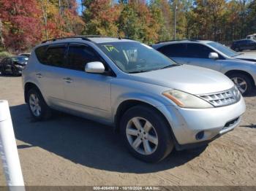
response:
<path id="1" fill-rule="evenodd" d="M 169 98 L 171 101 L 173 101 L 175 104 L 177 104 L 180 107 L 184 108 L 211 108 L 214 107 L 208 102 L 204 101 L 201 98 L 198 98 L 195 95 L 184 93 L 179 90 L 168 90 L 162 95 L 165 95 L 165 97 Z"/>

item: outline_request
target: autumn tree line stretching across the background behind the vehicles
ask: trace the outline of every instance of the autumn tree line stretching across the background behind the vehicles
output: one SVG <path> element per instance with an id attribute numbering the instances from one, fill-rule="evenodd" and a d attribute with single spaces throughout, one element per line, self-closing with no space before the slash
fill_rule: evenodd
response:
<path id="1" fill-rule="evenodd" d="M 0 0 L 0 51 L 83 34 L 227 44 L 253 33 L 256 0 Z"/>

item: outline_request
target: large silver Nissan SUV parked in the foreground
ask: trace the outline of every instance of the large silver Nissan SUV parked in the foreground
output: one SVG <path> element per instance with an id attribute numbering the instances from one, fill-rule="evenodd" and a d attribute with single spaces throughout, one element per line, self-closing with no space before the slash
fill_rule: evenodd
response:
<path id="1" fill-rule="evenodd" d="M 39 44 L 23 71 L 37 120 L 52 109 L 112 125 L 135 157 L 158 162 L 233 130 L 244 99 L 225 75 L 174 63 L 129 39 L 73 36 Z M 97 138 L 95 138 L 97 139 Z"/>

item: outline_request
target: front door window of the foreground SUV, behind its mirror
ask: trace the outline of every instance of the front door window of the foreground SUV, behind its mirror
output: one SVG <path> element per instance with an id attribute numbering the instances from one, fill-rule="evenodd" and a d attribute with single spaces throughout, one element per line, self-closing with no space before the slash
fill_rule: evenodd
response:
<path id="1" fill-rule="evenodd" d="M 91 47 L 87 47 L 83 44 L 70 44 L 67 55 L 67 68 L 84 71 L 86 63 L 101 61 L 101 58 Z"/>

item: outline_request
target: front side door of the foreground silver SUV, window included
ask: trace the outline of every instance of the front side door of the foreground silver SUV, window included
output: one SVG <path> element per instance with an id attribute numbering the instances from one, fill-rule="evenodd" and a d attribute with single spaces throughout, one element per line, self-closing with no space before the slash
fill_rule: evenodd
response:
<path id="1" fill-rule="evenodd" d="M 110 119 L 110 81 L 104 74 L 86 73 L 86 63 L 102 58 L 86 44 L 69 44 L 67 55 L 69 72 L 64 77 L 64 94 L 69 109 L 94 117 Z M 105 65 L 105 67 L 107 67 Z"/>

